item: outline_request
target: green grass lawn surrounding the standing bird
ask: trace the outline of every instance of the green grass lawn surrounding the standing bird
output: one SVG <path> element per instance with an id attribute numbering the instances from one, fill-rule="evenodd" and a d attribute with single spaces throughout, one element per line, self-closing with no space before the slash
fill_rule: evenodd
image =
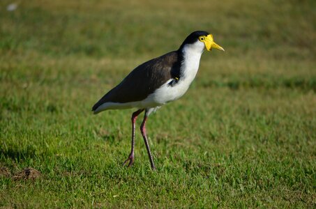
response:
<path id="1" fill-rule="evenodd" d="M 315 208 L 315 1 L 0 2 L 0 208 Z M 195 30 L 180 100 L 149 117 L 90 109 Z M 17 179 L 24 168 L 35 180 Z"/>

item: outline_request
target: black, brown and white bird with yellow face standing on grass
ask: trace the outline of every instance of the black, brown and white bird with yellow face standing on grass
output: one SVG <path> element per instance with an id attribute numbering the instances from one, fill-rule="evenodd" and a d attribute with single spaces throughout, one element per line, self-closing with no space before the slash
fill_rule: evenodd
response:
<path id="1" fill-rule="evenodd" d="M 103 95 L 93 105 L 93 114 L 108 109 L 131 109 L 133 112 L 131 150 L 123 162 L 130 167 L 135 160 L 135 121 L 144 111 L 140 132 L 144 139 L 151 169 L 155 170 L 153 155 L 146 136 L 146 121 L 158 108 L 181 98 L 197 75 L 200 58 L 205 51 L 211 49 L 225 50 L 213 40 L 213 35 L 206 31 L 194 31 L 182 42 L 179 49 L 137 66 L 117 86 Z M 128 164 L 127 164 L 128 163 Z"/>

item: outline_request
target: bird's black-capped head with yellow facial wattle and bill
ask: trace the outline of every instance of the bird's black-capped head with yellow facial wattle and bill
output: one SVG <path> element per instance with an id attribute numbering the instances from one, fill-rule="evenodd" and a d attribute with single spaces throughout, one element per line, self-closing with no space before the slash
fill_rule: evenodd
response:
<path id="1" fill-rule="evenodd" d="M 186 40 L 183 41 L 180 49 L 186 45 L 195 45 L 196 47 L 200 47 L 202 50 L 206 49 L 207 51 L 211 51 L 212 48 L 219 49 L 223 52 L 225 51 L 223 47 L 220 47 L 220 45 L 214 42 L 213 35 L 206 31 L 195 31 L 191 33 Z"/>

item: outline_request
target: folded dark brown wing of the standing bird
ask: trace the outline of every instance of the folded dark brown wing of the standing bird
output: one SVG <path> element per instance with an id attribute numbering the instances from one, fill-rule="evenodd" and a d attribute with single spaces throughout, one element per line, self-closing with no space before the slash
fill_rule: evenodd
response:
<path id="1" fill-rule="evenodd" d="M 179 54 L 170 52 L 156 59 L 142 63 L 135 68 L 123 81 L 106 93 L 94 106 L 96 110 L 105 102 L 135 102 L 144 100 L 167 80 L 179 74 Z"/>

